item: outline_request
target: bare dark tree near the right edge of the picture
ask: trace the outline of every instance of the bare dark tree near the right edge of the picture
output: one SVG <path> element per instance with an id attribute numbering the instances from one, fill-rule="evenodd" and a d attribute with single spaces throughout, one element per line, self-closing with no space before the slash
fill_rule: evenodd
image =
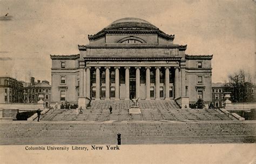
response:
<path id="1" fill-rule="evenodd" d="M 253 85 L 246 81 L 246 73 L 239 70 L 228 76 L 229 82 L 225 84 L 225 92 L 231 92 L 231 101 L 233 103 L 247 103 L 253 101 L 250 95 Z"/>

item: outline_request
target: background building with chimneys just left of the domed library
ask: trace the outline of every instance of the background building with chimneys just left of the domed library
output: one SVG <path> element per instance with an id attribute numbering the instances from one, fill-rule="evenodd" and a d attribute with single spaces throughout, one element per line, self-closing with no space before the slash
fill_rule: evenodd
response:
<path id="1" fill-rule="evenodd" d="M 23 83 L 24 87 L 24 103 L 37 103 L 40 99 L 39 95 L 43 95 L 45 107 L 49 107 L 51 101 L 51 85 L 49 81 L 37 80 L 35 78 L 30 78 L 30 83 Z"/>

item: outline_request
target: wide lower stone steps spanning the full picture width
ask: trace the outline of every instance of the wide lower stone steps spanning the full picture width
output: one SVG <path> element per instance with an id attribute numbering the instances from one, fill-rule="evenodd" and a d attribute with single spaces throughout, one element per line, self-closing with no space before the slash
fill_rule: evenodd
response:
<path id="1" fill-rule="evenodd" d="M 202 144 L 255 142 L 256 121 L 12 121 L 0 145 Z"/>

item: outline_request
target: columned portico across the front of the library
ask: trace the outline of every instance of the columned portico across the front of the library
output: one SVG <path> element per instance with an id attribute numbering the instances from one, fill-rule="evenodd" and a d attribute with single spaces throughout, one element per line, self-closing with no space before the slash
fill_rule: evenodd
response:
<path id="1" fill-rule="evenodd" d="M 178 98 L 185 91 L 185 85 L 182 85 L 185 72 L 182 73 L 179 63 L 176 62 L 178 58 L 168 59 L 168 65 L 155 62 L 134 64 L 130 61 L 123 64 L 116 59 L 112 60 L 109 63 L 99 59 L 87 61 L 86 66 L 79 70 L 80 74 L 86 74 L 79 80 L 80 95 L 95 100 L 160 100 Z M 166 60 L 161 62 L 166 63 Z M 80 63 L 83 67 L 84 62 Z M 122 72 L 121 76 L 119 72 Z M 183 81 L 185 83 L 185 79 Z"/>

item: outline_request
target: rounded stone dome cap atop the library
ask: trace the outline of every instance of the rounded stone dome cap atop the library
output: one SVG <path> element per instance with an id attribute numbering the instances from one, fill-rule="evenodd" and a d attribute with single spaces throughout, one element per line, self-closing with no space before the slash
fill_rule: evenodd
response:
<path id="1" fill-rule="evenodd" d="M 110 25 L 106 26 L 107 30 L 114 30 L 114 29 L 147 29 L 147 30 L 156 30 L 158 29 L 153 24 L 147 22 L 146 20 L 139 19 L 139 18 L 122 18 L 112 22 Z"/>

